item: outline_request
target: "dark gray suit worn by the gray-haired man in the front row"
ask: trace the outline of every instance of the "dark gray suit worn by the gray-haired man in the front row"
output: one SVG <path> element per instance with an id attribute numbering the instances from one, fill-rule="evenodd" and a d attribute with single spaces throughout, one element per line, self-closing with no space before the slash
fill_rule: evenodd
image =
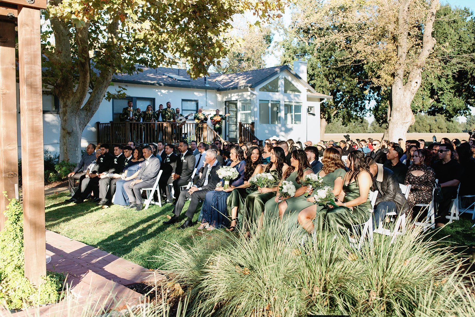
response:
<path id="1" fill-rule="evenodd" d="M 219 182 L 218 169 L 221 167 L 221 164 L 218 161 L 215 161 L 215 165 L 209 167 L 209 164 L 206 164 L 203 170 L 203 174 L 193 186 L 198 187 L 198 191 L 193 192 L 191 195 L 188 193 L 188 190 L 182 190 L 180 192 L 180 197 L 178 197 L 173 213 L 175 217 L 180 216 L 181 210 L 185 205 L 185 202 L 188 198 L 191 198 L 190 206 L 186 211 L 186 216 L 193 218 L 193 215 L 196 212 L 196 207 L 200 200 L 205 199 L 206 193 L 209 191 L 214 191 L 216 184 Z"/>

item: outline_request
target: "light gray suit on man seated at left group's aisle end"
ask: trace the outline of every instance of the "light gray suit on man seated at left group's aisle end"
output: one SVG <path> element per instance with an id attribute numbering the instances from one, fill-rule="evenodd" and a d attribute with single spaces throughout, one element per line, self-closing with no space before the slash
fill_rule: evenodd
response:
<path id="1" fill-rule="evenodd" d="M 133 182 L 133 180 L 131 180 L 123 184 L 123 188 L 129 197 L 130 203 L 141 204 L 142 195 L 140 190 L 142 188 L 153 187 L 157 180 L 158 172 L 160 172 L 160 160 L 152 155 L 148 158 L 148 164 L 146 162 L 147 160 L 142 164 L 142 168 L 135 178 L 136 180 L 142 180 L 142 182 L 131 186 L 131 183 Z"/>

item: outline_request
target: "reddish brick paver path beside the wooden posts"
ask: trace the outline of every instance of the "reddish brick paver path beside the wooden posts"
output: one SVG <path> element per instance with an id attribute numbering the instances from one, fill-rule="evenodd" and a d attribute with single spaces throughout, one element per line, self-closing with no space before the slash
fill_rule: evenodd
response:
<path id="1" fill-rule="evenodd" d="M 46 254 L 51 257 L 47 270 L 67 274 L 73 298 L 11 316 L 81 316 L 85 310 L 133 306 L 146 299 L 124 285 L 164 280 L 157 272 L 52 231 L 46 231 Z"/>

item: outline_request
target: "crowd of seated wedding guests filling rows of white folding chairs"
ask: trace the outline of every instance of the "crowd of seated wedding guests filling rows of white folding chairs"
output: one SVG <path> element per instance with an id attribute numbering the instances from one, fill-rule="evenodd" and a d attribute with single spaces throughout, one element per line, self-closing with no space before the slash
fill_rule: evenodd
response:
<path id="1" fill-rule="evenodd" d="M 442 139 L 425 146 L 424 140 L 405 144 L 387 140 L 342 140 L 338 144 L 311 141 L 267 139 L 246 144 L 222 142 L 211 144 L 181 141 L 179 144 L 156 143 L 136 146 L 89 144 L 71 172 L 72 197 L 67 202 L 83 203 L 91 197 L 98 205 L 123 205 L 142 210 L 143 188 L 151 188 L 158 178 L 155 200 L 173 205 L 173 214 L 164 225 L 180 221 L 185 202 L 190 204 L 179 229 L 194 225 L 199 212 L 199 230 L 242 226 L 250 231 L 253 223 L 290 221 L 307 232 L 330 230 L 348 232 L 354 224 L 368 221 L 372 214 L 376 227 L 386 213 L 408 214 L 420 211 L 417 204 L 428 204 L 438 180 L 443 200 L 438 203 L 437 226 L 447 223 L 450 204 L 460 195 L 475 194 L 470 181 L 475 171 L 475 139 Z M 401 146 L 403 145 L 403 146 Z M 404 147 L 404 148 L 403 148 Z M 236 169 L 237 177 L 225 186 L 218 176 L 221 166 Z M 259 173 L 272 175 L 267 187 L 249 183 Z M 334 205 L 315 203 L 320 188 L 306 186 L 304 178 L 318 174 L 324 185 L 333 189 Z M 79 186 L 76 187 L 76 181 Z M 295 196 L 281 197 L 283 181 L 295 185 Z M 182 189 L 189 182 L 189 188 Z M 411 185 L 406 199 L 399 184 Z M 378 191 L 373 207 L 370 191 Z M 199 208 L 199 202 L 203 202 Z"/>

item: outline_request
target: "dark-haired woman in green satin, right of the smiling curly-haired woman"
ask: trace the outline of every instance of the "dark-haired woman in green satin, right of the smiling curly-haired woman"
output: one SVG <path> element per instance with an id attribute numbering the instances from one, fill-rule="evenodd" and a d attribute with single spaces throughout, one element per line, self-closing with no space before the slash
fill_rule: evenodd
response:
<path id="1" fill-rule="evenodd" d="M 285 163 L 285 153 L 281 147 L 274 147 L 270 153 L 270 163 L 266 165 L 265 173 L 270 173 L 274 177 L 274 183 L 270 184 L 269 187 L 257 187 L 257 191 L 247 195 L 244 208 L 239 212 L 243 213 L 244 221 L 248 223 L 255 222 L 261 217 L 265 203 L 275 196 L 275 193 L 279 190 L 278 185 L 282 179 L 282 174 L 289 168 Z"/>

